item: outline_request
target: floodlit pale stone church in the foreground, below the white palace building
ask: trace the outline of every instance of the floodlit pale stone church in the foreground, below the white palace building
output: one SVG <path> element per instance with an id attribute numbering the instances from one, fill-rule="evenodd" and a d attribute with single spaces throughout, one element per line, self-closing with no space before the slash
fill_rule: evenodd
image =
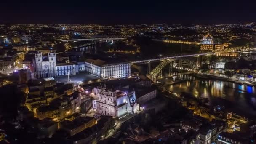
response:
<path id="1" fill-rule="evenodd" d="M 96 98 L 93 100 L 93 108 L 103 115 L 120 117 L 138 110 L 134 91 L 128 93 L 98 86 L 93 88 L 91 95 Z"/>

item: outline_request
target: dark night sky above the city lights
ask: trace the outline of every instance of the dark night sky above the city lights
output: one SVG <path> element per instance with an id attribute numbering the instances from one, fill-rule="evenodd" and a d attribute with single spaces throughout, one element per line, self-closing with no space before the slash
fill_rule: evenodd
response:
<path id="1" fill-rule="evenodd" d="M 0 0 L 0 23 L 218 24 L 256 21 L 256 0 L 34 1 L 39 2 Z"/>

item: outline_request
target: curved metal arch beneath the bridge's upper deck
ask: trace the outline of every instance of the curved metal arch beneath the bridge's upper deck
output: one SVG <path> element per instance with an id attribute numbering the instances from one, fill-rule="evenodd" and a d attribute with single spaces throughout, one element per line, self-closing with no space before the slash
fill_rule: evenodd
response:
<path id="1" fill-rule="evenodd" d="M 157 75 L 162 71 L 162 69 L 167 64 L 170 64 L 171 62 L 174 62 L 174 61 L 182 62 L 182 64 L 185 64 L 186 66 L 188 66 L 190 69 L 192 69 L 195 72 L 197 72 L 197 70 L 198 70 L 198 67 L 196 66 L 196 64 L 193 61 L 189 61 L 188 59 L 184 59 L 184 58 L 167 59 L 165 61 L 161 61 L 160 64 L 157 65 L 157 67 L 155 67 L 155 69 L 153 69 L 151 72 L 149 72 L 147 77 L 149 79 L 151 79 L 153 82 L 156 82 Z"/>

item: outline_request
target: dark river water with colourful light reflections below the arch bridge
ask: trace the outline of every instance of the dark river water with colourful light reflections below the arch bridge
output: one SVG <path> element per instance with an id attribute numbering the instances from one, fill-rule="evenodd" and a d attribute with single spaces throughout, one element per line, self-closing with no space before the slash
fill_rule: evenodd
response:
<path id="1" fill-rule="evenodd" d="M 178 77 L 176 77 L 178 78 Z M 175 93 L 191 93 L 195 97 L 208 98 L 209 106 L 223 105 L 230 112 L 256 119 L 256 88 L 222 80 L 204 80 L 192 75 L 182 75 L 185 80 L 174 85 L 165 85 Z"/>

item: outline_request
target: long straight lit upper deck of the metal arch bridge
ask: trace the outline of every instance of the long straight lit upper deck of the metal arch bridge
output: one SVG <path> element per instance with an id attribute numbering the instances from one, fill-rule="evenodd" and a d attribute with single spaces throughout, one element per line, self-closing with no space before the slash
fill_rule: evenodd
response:
<path id="1" fill-rule="evenodd" d="M 182 56 L 167 56 L 167 57 L 156 58 L 156 59 L 147 59 L 147 60 L 141 60 L 141 61 L 131 61 L 131 64 L 149 63 L 151 61 L 163 61 L 163 60 L 185 58 L 185 57 L 193 57 L 193 56 L 209 56 L 209 55 L 214 55 L 214 54 L 215 53 L 198 53 L 198 54 L 190 54 L 190 55 L 182 55 Z"/>

